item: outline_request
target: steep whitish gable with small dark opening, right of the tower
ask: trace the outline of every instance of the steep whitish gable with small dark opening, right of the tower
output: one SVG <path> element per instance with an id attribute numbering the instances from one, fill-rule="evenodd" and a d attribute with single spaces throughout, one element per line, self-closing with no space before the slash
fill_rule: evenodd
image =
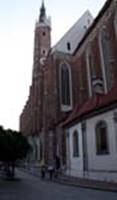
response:
<path id="1" fill-rule="evenodd" d="M 87 29 L 92 25 L 92 23 L 93 17 L 91 13 L 87 10 L 53 47 L 52 52 L 60 51 L 63 53 L 73 54 L 76 47 L 87 32 Z"/>

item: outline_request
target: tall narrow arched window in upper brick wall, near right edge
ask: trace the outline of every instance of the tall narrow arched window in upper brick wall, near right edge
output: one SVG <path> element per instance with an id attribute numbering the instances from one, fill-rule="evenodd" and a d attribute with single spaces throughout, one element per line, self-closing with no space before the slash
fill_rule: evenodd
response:
<path id="1" fill-rule="evenodd" d="M 100 47 L 101 47 L 101 62 L 103 79 L 105 82 L 105 91 L 107 92 L 112 88 L 113 74 L 112 74 L 112 51 L 110 44 L 110 37 L 107 30 L 103 29 L 100 34 Z"/>

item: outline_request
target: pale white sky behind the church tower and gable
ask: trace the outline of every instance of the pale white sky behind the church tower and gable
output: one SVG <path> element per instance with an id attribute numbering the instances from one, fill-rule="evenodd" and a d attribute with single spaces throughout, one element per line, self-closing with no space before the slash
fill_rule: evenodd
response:
<path id="1" fill-rule="evenodd" d="M 52 20 L 52 45 L 88 9 L 95 18 L 106 0 L 45 0 Z M 0 0 L 0 125 L 19 129 L 29 94 L 35 22 L 41 0 Z"/>

